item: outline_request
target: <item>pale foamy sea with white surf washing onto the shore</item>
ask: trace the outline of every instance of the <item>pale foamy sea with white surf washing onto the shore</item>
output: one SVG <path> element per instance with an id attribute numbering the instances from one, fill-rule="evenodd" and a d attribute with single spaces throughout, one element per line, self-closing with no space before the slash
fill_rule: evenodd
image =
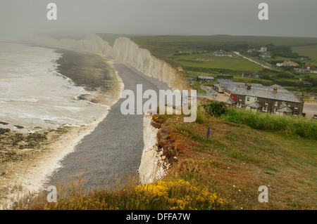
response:
<path id="1" fill-rule="evenodd" d="M 89 92 L 56 71 L 61 57 L 52 48 L 0 42 L 0 128 L 83 126 L 108 112 L 77 98 Z"/>

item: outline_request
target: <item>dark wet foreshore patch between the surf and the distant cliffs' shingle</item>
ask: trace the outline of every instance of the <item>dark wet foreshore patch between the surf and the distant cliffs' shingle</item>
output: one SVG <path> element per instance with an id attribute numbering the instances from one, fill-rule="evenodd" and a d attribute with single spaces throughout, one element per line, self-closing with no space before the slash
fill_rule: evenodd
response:
<path id="1" fill-rule="evenodd" d="M 63 57 L 57 60 L 58 72 L 83 86 L 90 95 L 79 99 L 111 106 L 120 97 L 120 79 L 101 55 L 58 49 Z"/>

